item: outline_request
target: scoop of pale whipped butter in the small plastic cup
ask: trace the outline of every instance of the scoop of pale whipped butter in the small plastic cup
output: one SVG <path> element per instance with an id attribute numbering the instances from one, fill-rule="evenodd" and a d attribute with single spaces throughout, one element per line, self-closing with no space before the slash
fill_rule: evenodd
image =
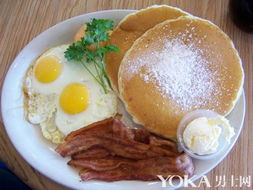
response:
<path id="1" fill-rule="evenodd" d="M 186 126 L 183 140 L 190 151 L 205 155 L 217 151 L 220 136 L 230 143 L 234 135 L 234 129 L 225 117 L 199 117 Z"/>

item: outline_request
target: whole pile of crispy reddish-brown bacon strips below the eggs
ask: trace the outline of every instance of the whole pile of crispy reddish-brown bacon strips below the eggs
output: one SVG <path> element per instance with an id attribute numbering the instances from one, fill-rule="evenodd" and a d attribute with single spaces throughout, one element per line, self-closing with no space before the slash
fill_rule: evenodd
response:
<path id="1" fill-rule="evenodd" d="M 117 116 L 119 117 L 119 116 Z M 71 156 L 82 180 L 157 180 L 157 175 L 193 175 L 191 158 L 176 143 L 109 118 L 70 133 L 56 151 Z"/>

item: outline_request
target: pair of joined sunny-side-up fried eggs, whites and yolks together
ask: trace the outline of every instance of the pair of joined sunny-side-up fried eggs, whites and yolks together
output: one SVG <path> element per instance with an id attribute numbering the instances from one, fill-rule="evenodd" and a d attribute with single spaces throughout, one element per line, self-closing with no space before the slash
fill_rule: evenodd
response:
<path id="1" fill-rule="evenodd" d="M 80 64 L 67 61 L 61 45 L 43 53 L 24 79 L 27 120 L 41 127 L 43 136 L 60 143 L 71 131 L 112 117 L 117 97 L 103 88 Z M 92 65 L 88 65 L 95 73 Z"/>

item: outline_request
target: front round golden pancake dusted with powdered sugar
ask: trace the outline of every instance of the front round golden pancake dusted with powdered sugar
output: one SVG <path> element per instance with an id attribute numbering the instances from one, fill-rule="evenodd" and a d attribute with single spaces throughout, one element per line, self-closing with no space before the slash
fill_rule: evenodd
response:
<path id="1" fill-rule="evenodd" d="M 229 114 L 243 81 L 241 59 L 229 37 L 193 16 L 148 30 L 128 50 L 119 69 L 120 97 L 134 121 L 173 139 L 188 112 Z"/>

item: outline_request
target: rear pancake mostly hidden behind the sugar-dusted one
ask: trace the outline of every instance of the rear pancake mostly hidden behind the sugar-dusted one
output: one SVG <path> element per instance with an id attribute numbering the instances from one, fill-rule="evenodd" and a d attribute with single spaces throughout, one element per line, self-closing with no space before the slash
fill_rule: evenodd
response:
<path id="1" fill-rule="evenodd" d="M 110 44 L 116 45 L 120 53 L 110 53 L 105 57 L 106 72 L 115 91 L 118 90 L 118 70 L 126 51 L 134 41 L 148 29 L 167 19 L 175 19 L 186 12 L 167 5 L 151 6 L 126 16 L 111 34 Z"/>

